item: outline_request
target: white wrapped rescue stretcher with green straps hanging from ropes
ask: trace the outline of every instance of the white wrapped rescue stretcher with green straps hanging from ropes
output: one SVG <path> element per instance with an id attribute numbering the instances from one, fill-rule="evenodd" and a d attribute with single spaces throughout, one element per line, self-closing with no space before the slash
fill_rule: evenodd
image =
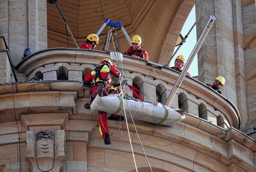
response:
<path id="1" fill-rule="evenodd" d="M 91 104 L 91 109 L 106 111 L 123 117 L 125 113 L 129 117 L 130 113 L 127 112 L 130 109 L 133 118 L 170 127 L 185 118 L 184 110 L 174 110 L 161 103 L 146 103 L 126 99 L 118 94 L 103 97 L 97 95 Z"/>

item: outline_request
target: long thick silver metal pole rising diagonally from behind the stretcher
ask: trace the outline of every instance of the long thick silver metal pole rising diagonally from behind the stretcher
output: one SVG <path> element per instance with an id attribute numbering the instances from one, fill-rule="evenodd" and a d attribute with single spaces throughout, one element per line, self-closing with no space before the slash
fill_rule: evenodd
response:
<path id="1" fill-rule="evenodd" d="M 207 36 L 209 30 L 211 29 L 211 26 L 214 22 L 216 18 L 214 16 L 210 16 L 207 24 L 204 27 L 204 30 L 202 32 L 202 34 L 200 35 L 194 49 L 192 50 L 191 54 L 189 55 L 188 61 L 186 62 L 184 69 L 182 70 L 182 72 L 180 73 L 179 78 L 177 79 L 177 81 L 175 82 L 172 92 L 170 93 L 170 95 L 168 96 L 166 103 L 164 104 L 165 106 L 170 106 L 170 104 L 172 103 L 173 97 L 175 96 L 177 90 L 180 87 L 180 84 L 182 83 L 182 81 L 184 80 L 184 77 L 188 71 L 188 68 L 191 64 L 191 62 L 193 61 L 195 55 L 197 54 L 199 48 L 201 47 L 202 43 L 204 42 L 205 37 Z"/>

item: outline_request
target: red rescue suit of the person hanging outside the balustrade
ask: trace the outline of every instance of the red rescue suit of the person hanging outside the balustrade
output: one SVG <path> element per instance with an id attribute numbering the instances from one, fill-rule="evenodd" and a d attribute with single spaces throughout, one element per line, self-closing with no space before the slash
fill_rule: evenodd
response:
<path id="1" fill-rule="evenodd" d="M 111 74 L 116 77 L 120 76 L 118 69 L 116 69 L 114 65 L 102 61 L 100 62 L 99 66 L 97 66 L 94 70 L 89 71 L 84 76 L 85 85 L 90 85 L 90 87 L 92 88 L 91 103 L 93 99 L 97 96 L 97 93 L 99 92 L 99 85 L 101 85 L 101 87 L 104 87 L 104 96 L 108 96 L 106 88 L 109 87 L 109 85 L 111 85 Z M 105 140 L 105 134 L 109 133 L 109 130 L 107 122 L 107 113 L 104 111 L 99 111 L 99 129 L 102 138 Z"/>

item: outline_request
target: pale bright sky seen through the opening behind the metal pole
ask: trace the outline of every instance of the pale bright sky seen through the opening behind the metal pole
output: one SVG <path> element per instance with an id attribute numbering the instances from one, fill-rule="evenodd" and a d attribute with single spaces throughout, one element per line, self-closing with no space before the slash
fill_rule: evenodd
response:
<path id="1" fill-rule="evenodd" d="M 186 34 L 188 34 L 189 30 L 191 29 L 195 21 L 196 21 L 196 17 L 195 17 L 195 6 L 194 6 L 191 12 L 189 13 L 189 16 L 181 30 L 181 34 L 183 37 L 185 37 Z M 185 61 L 187 61 L 195 45 L 196 45 L 196 26 L 188 35 L 186 42 L 179 48 L 179 51 L 175 54 L 175 57 L 173 57 L 172 61 L 170 62 L 170 66 L 171 67 L 174 66 L 175 58 L 180 54 L 184 55 Z M 178 46 L 175 47 L 174 52 L 177 48 Z M 191 66 L 189 67 L 188 72 L 190 73 L 191 76 L 198 76 L 197 55 L 195 56 L 193 62 L 191 63 Z"/>

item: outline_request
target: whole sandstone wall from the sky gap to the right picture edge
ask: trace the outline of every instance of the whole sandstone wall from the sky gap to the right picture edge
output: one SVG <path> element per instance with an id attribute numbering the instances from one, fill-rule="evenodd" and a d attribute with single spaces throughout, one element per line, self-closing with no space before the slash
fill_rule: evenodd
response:
<path id="1" fill-rule="evenodd" d="M 198 52 L 199 80 L 212 83 L 216 76 L 225 77 L 223 95 L 241 113 L 244 132 L 252 131 L 255 120 L 255 13 L 255 1 L 196 1 L 198 36 L 208 16 L 216 17 Z"/>

